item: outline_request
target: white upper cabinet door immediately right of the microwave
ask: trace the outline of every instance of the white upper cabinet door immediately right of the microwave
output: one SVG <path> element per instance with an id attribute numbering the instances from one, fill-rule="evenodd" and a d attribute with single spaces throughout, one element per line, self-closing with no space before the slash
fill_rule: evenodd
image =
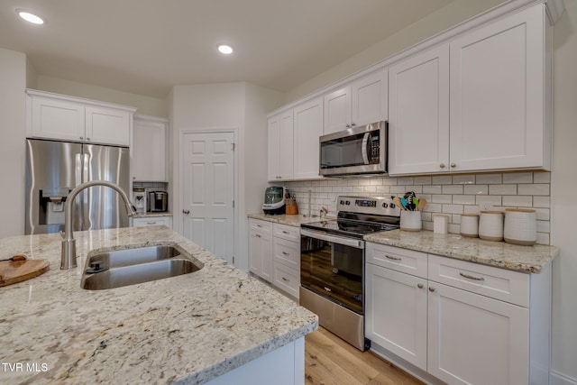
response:
<path id="1" fill-rule="evenodd" d="M 449 170 L 449 46 L 389 69 L 389 174 Z"/>

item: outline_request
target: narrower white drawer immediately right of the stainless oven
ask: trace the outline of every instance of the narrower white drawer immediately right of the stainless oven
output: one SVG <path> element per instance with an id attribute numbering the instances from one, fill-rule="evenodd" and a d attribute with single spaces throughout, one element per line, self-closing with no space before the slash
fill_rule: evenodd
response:
<path id="1" fill-rule="evenodd" d="M 367 243 L 366 251 L 367 263 L 426 278 L 427 254 L 425 252 L 399 249 L 379 243 Z"/>

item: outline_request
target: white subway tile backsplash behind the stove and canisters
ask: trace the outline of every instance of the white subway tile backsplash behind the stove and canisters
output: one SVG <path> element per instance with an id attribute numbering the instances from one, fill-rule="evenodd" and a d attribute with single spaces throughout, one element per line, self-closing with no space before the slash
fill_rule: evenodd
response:
<path id="1" fill-rule="evenodd" d="M 286 182 L 285 187 L 297 197 L 299 214 L 308 214 L 308 190 L 311 191 L 311 214 L 318 215 L 321 207 L 336 214 L 339 195 L 380 197 L 402 196 L 415 191 L 426 198 L 423 228 L 433 230 L 433 215 L 449 215 L 449 233 L 461 232 L 461 214 L 479 213 L 480 206 L 505 208 L 535 208 L 537 243 L 549 244 L 550 172 L 510 172 L 466 175 L 435 175 L 419 177 L 371 177 L 323 179 Z"/>

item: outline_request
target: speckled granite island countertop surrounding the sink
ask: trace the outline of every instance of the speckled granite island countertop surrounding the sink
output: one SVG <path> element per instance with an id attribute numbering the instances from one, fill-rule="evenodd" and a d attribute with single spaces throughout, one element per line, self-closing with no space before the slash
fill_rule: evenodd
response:
<path id="1" fill-rule="evenodd" d="M 24 253 L 50 261 L 41 276 L 0 288 L 0 383 L 204 383 L 318 325 L 304 307 L 165 226 L 75 237 L 74 270 L 60 270 L 60 234 L 0 240 L 0 259 Z M 203 268 L 123 288 L 80 288 L 87 252 L 167 243 Z M 26 371 L 28 364 L 39 371 Z"/>

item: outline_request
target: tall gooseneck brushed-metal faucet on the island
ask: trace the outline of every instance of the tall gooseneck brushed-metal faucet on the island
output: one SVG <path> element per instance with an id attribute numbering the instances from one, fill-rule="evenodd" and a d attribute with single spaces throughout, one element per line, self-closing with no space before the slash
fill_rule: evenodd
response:
<path id="1" fill-rule="evenodd" d="M 118 185 L 107 182 L 105 180 L 91 180 L 89 182 L 78 185 L 76 188 L 70 191 L 69 196 L 66 198 L 66 203 L 64 204 L 64 233 L 60 232 L 60 235 L 62 235 L 62 259 L 60 261 L 60 270 L 69 270 L 77 267 L 76 240 L 74 239 L 74 234 L 72 234 L 72 205 L 74 203 L 74 199 L 78 196 L 80 191 L 85 188 L 91 188 L 93 186 L 105 186 L 114 189 L 118 195 L 123 198 L 128 216 L 133 216 L 136 214 L 136 209 L 134 208 L 133 204 L 126 196 L 124 190 Z"/>

